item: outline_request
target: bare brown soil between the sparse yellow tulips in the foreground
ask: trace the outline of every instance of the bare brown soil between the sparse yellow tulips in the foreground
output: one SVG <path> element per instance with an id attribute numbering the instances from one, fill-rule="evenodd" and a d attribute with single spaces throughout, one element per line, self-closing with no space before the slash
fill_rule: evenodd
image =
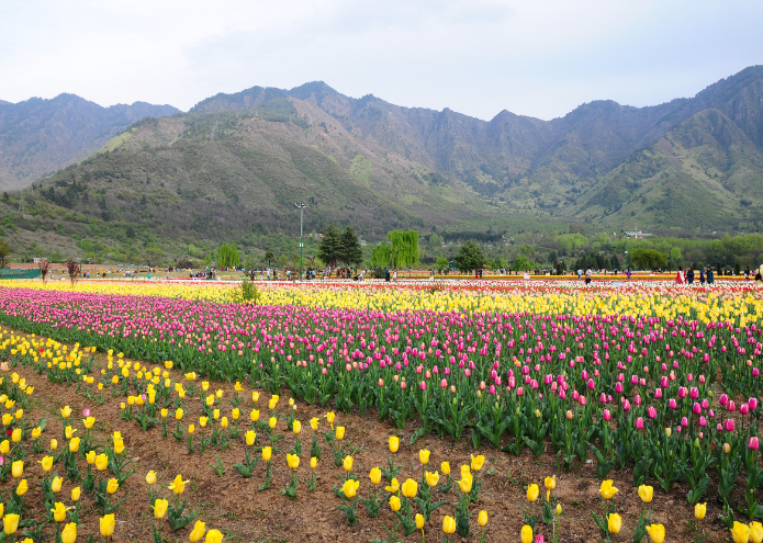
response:
<path id="1" fill-rule="evenodd" d="M 21 332 L 14 332 L 24 336 Z M 8 351 L 0 351 L 0 358 L 8 357 Z M 105 355 L 97 355 L 97 366 L 105 365 Z M 162 369 L 164 370 L 164 369 Z M 187 511 L 194 511 L 199 519 L 206 522 L 207 529 L 216 528 L 226 534 L 225 541 L 231 542 L 367 542 L 373 539 L 385 540 L 386 534 L 382 528 L 392 528 L 393 516 L 389 506 L 382 506 L 379 518 L 369 518 L 362 504 L 358 505 L 359 523 L 348 527 L 344 513 L 337 509 L 340 505 L 339 498 L 333 493 L 332 487 L 340 486 L 340 478 L 344 475 L 341 468 L 334 466 L 333 454 L 323 439 L 318 434 L 323 451 L 323 461 L 317 468 L 317 488 L 314 493 L 307 491 L 304 483 L 311 474 L 308 467 L 310 444 L 313 431 L 308 421 L 312 417 L 322 419 L 321 428 L 327 429 L 326 419 L 323 418 L 328 409 L 310 406 L 304 401 L 296 400 L 298 418 L 303 423 L 301 434 L 303 453 L 302 463 L 298 470 L 300 485 L 298 487 L 299 498 L 290 500 L 279 495 L 290 479 L 290 473 L 285 464 L 285 451 L 294 443 L 294 437 L 285 428 L 283 418 L 279 420 L 278 433 L 282 433 L 284 439 L 277 443 L 280 453 L 273 454 L 273 473 L 271 487 L 268 490 L 258 491 L 257 487 L 262 484 L 265 467 L 260 462 L 256 468 L 254 477 L 246 479 L 242 477 L 232 465 L 242 463 L 244 460 L 243 435 L 238 442 L 231 445 L 226 451 L 218 449 L 207 449 L 204 454 L 194 453 L 188 455 L 184 442 L 177 442 L 172 435 L 167 440 L 161 438 L 161 427 L 157 425 L 154 429 L 143 432 L 137 422 L 126 422 L 121 419 L 120 401 L 124 398 L 109 399 L 105 404 L 98 407 L 92 401 L 75 392 L 75 387 L 51 384 L 45 375 L 34 373 L 29 366 L 16 367 L 22 377 L 26 377 L 27 383 L 35 387 L 33 395 L 33 408 L 25 414 L 25 418 L 38 420 L 47 418 L 47 428 L 43 433 L 45 443 L 51 438 L 58 438 L 59 442 L 63 432 L 63 418 L 59 408 L 65 405 L 71 406 L 75 415 L 75 425 L 81 430 L 81 417 L 77 417 L 82 409 L 90 408 L 97 419 L 93 427 L 93 434 L 99 443 L 110 443 L 111 434 L 120 430 L 125 441 L 127 454 L 134 460 L 132 467 L 135 474 L 119 489 L 115 497 L 121 499 L 127 497 L 116 512 L 116 530 L 113 541 L 116 542 L 149 542 L 152 536 L 153 512 L 148 502 L 148 485 L 144 477 L 149 470 L 156 471 L 159 484 L 162 487 L 161 497 L 170 499 L 171 493 L 166 488 L 177 474 L 182 474 L 184 479 L 190 479 L 184 497 L 188 497 L 189 507 Z M 172 381 L 186 383 L 183 376 L 176 371 L 170 371 Z M 94 371 L 93 374 L 97 374 Z M 198 382 L 200 385 L 200 382 Z M 210 384 L 211 389 L 223 388 L 226 397 L 233 394 L 233 385 L 228 383 Z M 199 386 L 201 388 L 201 386 Z M 250 389 L 247 387 L 245 399 L 240 405 L 242 418 L 240 428 L 246 430 L 250 422 L 248 419 L 249 410 L 253 408 Z M 106 394 L 110 394 L 106 391 Z M 289 391 L 282 391 L 281 400 L 277 411 L 285 414 L 289 409 Z M 261 417 L 267 417 L 267 403 L 270 398 L 268 393 L 263 393 L 259 399 Z M 187 409 L 184 423 L 197 422 L 199 417 L 199 401 L 183 400 L 183 408 Z M 231 407 L 227 406 L 229 417 Z M 394 455 L 395 465 L 403 466 L 399 475 L 401 483 L 407 478 L 420 479 L 422 466 L 418 462 L 419 449 L 431 451 L 430 463 L 439 467 L 440 462 L 449 461 L 452 474 L 458 474 L 459 466 L 469 463 L 470 454 L 475 451 L 471 446 L 468 437 L 462 438 L 458 443 L 450 439 L 440 439 L 438 435 L 427 435 L 419 439 L 413 446 L 407 443 L 413 431 L 418 428 L 411 421 L 405 430 L 399 431 L 389 423 L 379 422 L 374 412 L 360 417 L 359 414 L 349 415 L 337 412 L 335 425 L 345 426 L 347 429 L 346 441 L 352 442 L 356 446 L 362 446 L 362 451 L 355 455 L 355 466 L 352 472 L 360 476 L 361 496 L 367 496 L 370 485 L 368 473 L 374 466 L 386 466 L 388 438 L 397 434 L 401 438 L 400 451 Z M 170 415 L 168 427 L 175 428 L 175 419 Z M 207 429 L 209 430 L 209 429 Z M 243 433 L 243 432 L 242 432 Z M 550 445 L 547 446 L 550 450 Z M 487 542 L 516 542 L 519 541 L 519 530 L 523 525 L 523 517 L 519 507 L 528 509 L 528 501 L 525 498 L 528 484 L 537 483 L 541 488 L 541 499 L 545 496 L 543 477 L 557 474 L 557 489 L 553 495 L 561 500 L 563 514 L 558 528 L 560 541 L 562 542 L 598 542 L 601 534 L 595 525 L 591 511 L 601 514 L 602 499 L 598 495 L 599 482 L 594 474 L 593 463 L 575 465 L 570 473 L 561 473 L 557 468 L 557 459 L 548 452 L 540 459 L 536 459 L 527 450 L 520 456 L 512 456 L 498 452 L 492 448 L 483 446 L 476 451 L 484 454 L 486 462 L 480 477 L 483 479 L 482 491 L 480 493 L 479 504 L 472 505 L 472 536 L 469 540 L 453 538 L 453 541 L 480 541 L 480 527 L 476 524 L 476 513 L 484 509 L 490 514 L 490 521 L 485 528 L 485 541 Z M 221 478 L 210 467 L 215 464 L 214 455 L 218 455 L 225 466 L 224 476 Z M 42 506 L 42 493 L 40 490 L 40 479 L 42 478 L 42 467 L 37 461 L 43 455 L 31 453 L 25 462 L 25 477 L 30 483 L 30 490 L 24 497 L 24 502 L 31 506 L 31 514 L 40 518 L 38 510 Z M 56 465 L 54 470 L 61 473 L 61 466 Z M 80 471 L 85 473 L 85 461 L 80 461 Z M 108 473 L 108 472 L 104 472 Z M 632 530 L 638 516 L 642 509 L 641 501 L 636 488 L 632 486 L 630 470 L 616 471 L 610 474 L 615 480 L 615 486 L 619 488 L 616 496 L 617 511 L 622 516 L 622 532 L 618 536 L 619 541 L 632 540 Z M 0 485 L 0 491 L 8 493 L 12 487 L 13 479 Z M 382 479 L 383 482 L 383 479 Z M 70 502 L 70 490 L 75 485 L 66 482 L 60 496 L 67 505 Z M 383 484 L 380 485 L 383 493 Z M 446 496 L 435 496 L 435 499 L 456 501 L 458 499 L 458 486 L 455 486 Z M 693 507 L 686 502 L 686 485 L 676 485 L 667 495 L 660 488 L 654 488 L 654 499 L 651 504 L 653 509 L 652 522 L 663 523 L 666 528 L 666 541 L 693 541 L 693 532 L 688 529 L 688 521 L 693 519 Z M 702 522 L 704 530 L 710 532 L 706 541 L 726 541 L 728 531 L 723 531 L 722 524 L 718 520 L 720 509 L 715 499 L 715 483 L 706 495 L 708 498 L 707 517 Z M 540 499 L 538 504 L 540 504 Z M 538 507 L 536 505 L 536 510 Z M 85 541 L 89 534 L 96 534 L 98 540 L 98 522 L 100 513 L 89 496 L 82 494 L 81 499 L 81 523 L 79 527 L 78 541 Z M 36 509 L 36 511 L 35 511 Z M 415 508 L 414 508 L 415 509 Z M 27 513 L 29 514 L 29 513 Z M 426 542 L 440 542 L 442 540 L 442 518 L 445 514 L 453 514 L 453 507 L 444 506 L 433 514 L 431 521 L 425 527 Z M 169 531 L 167 521 L 162 524 L 162 535 L 166 541 L 188 541 L 188 534 L 193 523 L 177 533 Z M 539 533 L 545 534 L 547 541 L 551 541 L 551 529 L 538 524 Z M 52 539 L 52 529 L 48 528 L 46 536 Z M 414 532 L 411 536 L 404 538 L 399 532 L 401 541 L 417 542 L 422 540 L 422 533 Z M 644 541 L 649 541 L 648 536 Z"/>

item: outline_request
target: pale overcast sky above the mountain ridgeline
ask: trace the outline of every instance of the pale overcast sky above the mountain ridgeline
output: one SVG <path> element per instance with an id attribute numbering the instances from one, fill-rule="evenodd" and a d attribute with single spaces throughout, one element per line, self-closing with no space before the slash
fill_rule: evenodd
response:
<path id="1" fill-rule="evenodd" d="M 652 105 L 763 64 L 763 2 L 0 0 L 0 99 L 188 110 L 323 80 L 481 118 Z"/>

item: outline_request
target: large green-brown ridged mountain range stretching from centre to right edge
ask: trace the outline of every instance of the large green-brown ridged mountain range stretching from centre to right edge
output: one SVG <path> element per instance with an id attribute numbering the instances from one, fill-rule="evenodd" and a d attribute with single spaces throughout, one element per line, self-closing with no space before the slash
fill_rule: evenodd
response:
<path id="1" fill-rule="evenodd" d="M 71 109 L 99 108 L 63 97 L 55 100 Z M 14 124 L 3 113 L 18 106 L 0 104 L 2 126 L 11 126 L 0 133 L 3 157 L 13 143 L 5 134 L 37 126 L 24 121 L 33 115 Z M 175 110 L 153 108 L 101 109 L 109 122 L 81 128 L 90 139 L 70 129 L 60 145 L 72 156 L 86 152 L 86 139 L 91 149 L 96 140 L 102 147 L 34 182 L 25 200 L 19 193 L 0 200 L 0 215 L 30 231 L 96 236 L 112 256 L 137 250 L 138 240 L 182 252 L 189 244 L 233 239 L 261 248 L 268 236 L 268 244 L 273 236 L 293 239 L 295 202 L 308 204 L 305 231 L 352 225 L 369 240 L 408 227 L 500 239 L 496 233 L 553 234 L 570 223 L 608 231 L 761 223 L 761 66 L 693 98 L 648 108 L 594 101 L 551 121 L 403 108 L 372 94 L 346 97 L 322 81 L 220 93 L 171 116 L 160 115 Z M 66 108 L 57 111 L 66 117 Z M 20 142 L 13 149 L 25 148 Z M 30 170 L 51 168 L 40 166 L 44 154 L 29 149 Z"/>

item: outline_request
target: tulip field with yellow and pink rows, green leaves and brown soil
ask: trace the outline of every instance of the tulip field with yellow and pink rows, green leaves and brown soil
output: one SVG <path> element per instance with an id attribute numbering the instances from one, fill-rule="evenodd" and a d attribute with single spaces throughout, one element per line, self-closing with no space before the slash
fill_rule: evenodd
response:
<path id="1" fill-rule="evenodd" d="M 0 541 L 763 541 L 763 290 L 0 282 Z"/>

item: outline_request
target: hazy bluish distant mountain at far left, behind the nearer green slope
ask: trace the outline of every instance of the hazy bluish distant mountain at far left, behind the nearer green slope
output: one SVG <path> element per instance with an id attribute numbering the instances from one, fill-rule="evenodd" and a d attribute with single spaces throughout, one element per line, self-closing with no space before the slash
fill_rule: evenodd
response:
<path id="1" fill-rule="evenodd" d="M 102 108 L 75 94 L 0 101 L 0 189 L 27 186 L 81 160 L 141 118 L 176 113 L 171 105 L 145 102 Z"/>

